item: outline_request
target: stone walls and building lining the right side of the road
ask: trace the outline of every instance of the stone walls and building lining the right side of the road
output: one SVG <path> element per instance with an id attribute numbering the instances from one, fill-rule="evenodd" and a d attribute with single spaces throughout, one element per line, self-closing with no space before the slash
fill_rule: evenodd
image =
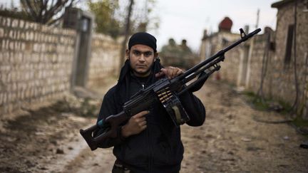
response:
<path id="1" fill-rule="evenodd" d="M 308 9 L 304 1 L 298 1 L 295 58 L 295 40 L 292 41 L 292 46 L 287 46 L 288 28 L 295 23 L 294 1 L 282 1 L 281 4 L 276 6 L 277 31 L 265 28 L 264 34 L 246 41 L 237 51 L 226 53 L 227 58 L 221 63 L 220 78 L 254 93 L 260 91 L 263 82 L 262 94 L 265 98 L 283 101 L 289 105 L 293 105 L 298 94 L 297 110 L 308 118 Z M 211 51 L 207 50 L 208 48 L 222 48 L 224 38 L 221 32 L 204 37 L 201 52 L 208 54 Z M 285 60 L 287 47 L 291 48 L 289 62 Z"/>

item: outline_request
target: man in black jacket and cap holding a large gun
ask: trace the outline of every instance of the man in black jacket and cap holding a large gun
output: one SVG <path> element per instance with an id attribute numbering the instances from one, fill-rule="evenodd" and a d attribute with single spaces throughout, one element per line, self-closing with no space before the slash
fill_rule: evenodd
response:
<path id="1" fill-rule="evenodd" d="M 131 36 L 126 50 L 127 60 L 118 83 L 103 98 L 98 121 L 122 111 L 123 104 L 141 88 L 159 78 L 172 79 L 183 73 L 179 68 L 163 68 L 157 57 L 154 36 L 149 33 Z M 202 125 L 205 108 L 200 100 L 189 91 L 180 95 L 180 100 L 190 116 L 187 124 Z M 175 127 L 160 103 L 133 115 L 118 127 L 116 138 L 105 140 L 99 147 L 113 147 L 116 156 L 113 172 L 179 172 L 184 152 L 180 127 Z"/>

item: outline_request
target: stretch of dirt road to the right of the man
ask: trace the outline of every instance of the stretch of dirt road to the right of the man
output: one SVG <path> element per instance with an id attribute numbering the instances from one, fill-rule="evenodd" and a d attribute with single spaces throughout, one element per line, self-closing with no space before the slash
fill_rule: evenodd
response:
<path id="1" fill-rule="evenodd" d="M 185 158 L 182 172 L 308 172 L 307 138 L 275 112 L 257 111 L 230 86 L 207 83 L 197 95 L 207 108 L 202 127 L 183 126 Z"/>

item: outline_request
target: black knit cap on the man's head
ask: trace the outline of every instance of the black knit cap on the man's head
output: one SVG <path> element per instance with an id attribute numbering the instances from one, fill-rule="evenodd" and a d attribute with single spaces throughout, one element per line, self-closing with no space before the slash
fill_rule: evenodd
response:
<path id="1" fill-rule="evenodd" d="M 149 46 L 150 48 L 153 48 L 154 52 L 156 52 L 156 38 L 150 35 L 150 33 L 140 32 L 133 34 L 128 41 L 128 49 L 136 44 Z"/>

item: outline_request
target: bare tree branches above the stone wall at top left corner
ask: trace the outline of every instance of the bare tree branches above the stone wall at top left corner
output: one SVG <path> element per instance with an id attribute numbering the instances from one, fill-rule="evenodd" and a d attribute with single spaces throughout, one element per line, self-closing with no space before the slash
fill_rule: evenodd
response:
<path id="1" fill-rule="evenodd" d="M 79 0 L 20 0 L 21 8 L 33 20 L 51 25 L 63 18 L 66 7 Z"/>

